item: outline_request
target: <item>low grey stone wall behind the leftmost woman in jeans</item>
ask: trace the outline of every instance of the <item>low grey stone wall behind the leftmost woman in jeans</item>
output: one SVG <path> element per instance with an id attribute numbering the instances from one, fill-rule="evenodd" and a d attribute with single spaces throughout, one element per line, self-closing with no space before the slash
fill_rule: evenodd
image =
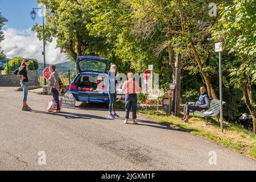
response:
<path id="1" fill-rule="evenodd" d="M 28 70 L 28 83 L 30 86 L 39 86 L 39 77 L 37 70 Z M 0 76 L 0 86 L 20 86 L 19 76 L 10 73 L 9 75 Z"/>

